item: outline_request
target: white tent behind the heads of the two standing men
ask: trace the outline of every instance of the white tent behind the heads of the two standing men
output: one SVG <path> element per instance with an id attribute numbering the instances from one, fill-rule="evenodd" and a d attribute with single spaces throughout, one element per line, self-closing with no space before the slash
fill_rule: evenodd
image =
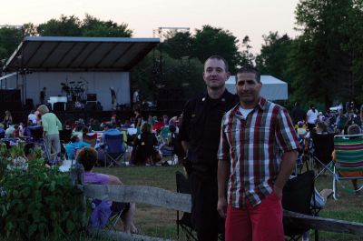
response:
<path id="1" fill-rule="evenodd" d="M 261 75 L 262 89 L 260 95 L 268 100 L 287 100 L 288 83 L 271 75 Z M 236 76 L 231 75 L 226 82 L 226 88 L 231 93 L 236 93 Z"/>

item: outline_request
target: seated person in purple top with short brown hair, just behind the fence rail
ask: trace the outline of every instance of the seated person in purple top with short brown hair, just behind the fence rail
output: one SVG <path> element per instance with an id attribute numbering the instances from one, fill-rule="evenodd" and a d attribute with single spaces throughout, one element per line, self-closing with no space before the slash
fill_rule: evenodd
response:
<path id="1" fill-rule="evenodd" d="M 117 176 L 105 175 L 93 172 L 93 167 L 97 162 L 97 151 L 93 147 L 83 147 L 77 157 L 78 163 L 84 168 L 84 183 L 93 185 L 123 185 Z M 122 212 L 123 230 L 125 233 L 137 233 L 137 228 L 133 224 L 133 216 L 136 206 L 133 203 L 107 202 L 113 213 Z"/>

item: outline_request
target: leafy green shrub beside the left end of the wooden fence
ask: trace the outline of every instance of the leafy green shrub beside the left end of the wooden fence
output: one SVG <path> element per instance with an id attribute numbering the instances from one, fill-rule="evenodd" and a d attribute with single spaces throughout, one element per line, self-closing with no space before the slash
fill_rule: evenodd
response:
<path id="1" fill-rule="evenodd" d="M 0 146 L 1 151 L 5 153 Z M 81 234 L 83 196 L 68 174 L 44 167 L 44 159 L 30 161 L 27 170 L 1 166 L 0 236 L 52 240 Z"/>

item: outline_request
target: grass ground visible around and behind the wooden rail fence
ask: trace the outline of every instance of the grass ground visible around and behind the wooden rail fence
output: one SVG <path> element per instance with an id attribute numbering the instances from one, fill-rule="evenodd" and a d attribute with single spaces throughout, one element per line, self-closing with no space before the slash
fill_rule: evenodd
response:
<path id="1" fill-rule="evenodd" d="M 126 185 L 157 186 L 176 190 L 175 172 L 182 171 L 182 166 L 128 166 L 97 168 L 95 171 L 111 174 L 121 178 Z M 360 182 L 361 184 L 361 182 Z M 351 187 L 349 182 L 344 185 Z M 321 176 L 317 179 L 318 190 L 332 188 L 332 176 Z M 358 196 L 348 193 L 339 186 L 339 199 L 330 198 L 327 206 L 319 216 L 337 218 L 363 223 L 363 194 Z M 137 205 L 135 224 L 142 235 L 159 236 L 177 240 L 176 211 L 155 206 Z M 179 240 L 185 240 L 183 236 Z M 310 240 L 314 240 L 311 232 Z M 319 232 L 319 240 L 363 240 L 363 236 L 351 236 L 330 232 Z"/>

